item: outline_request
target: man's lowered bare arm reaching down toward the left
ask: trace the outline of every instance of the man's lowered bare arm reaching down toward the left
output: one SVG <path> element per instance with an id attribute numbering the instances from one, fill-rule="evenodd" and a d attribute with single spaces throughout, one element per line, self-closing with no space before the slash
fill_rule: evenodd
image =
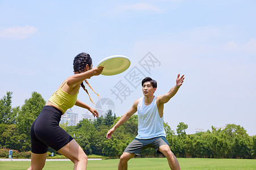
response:
<path id="1" fill-rule="evenodd" d="M 135 100 L 134 104 L 133 104 L 133 107 L 131 107 L 130 110 L 127 113 L 123 114 L 123 116 L 120 118 L 120 120 L 117 122 L 117 124 L 115 124 L 113 126 L 113 128 L 108 131 L 108 134 L 106 135 L 107 139 L 111 139 L 112 134 L 114 133 L 115 129 L 117 129 L 119 126 L 124 124 L 127 120 L 129 120 L 129 118 L 131 116 L 133 116 L 134 113 L 137 112 L 138 102 L 139 102 L 139 99 Z"/>

